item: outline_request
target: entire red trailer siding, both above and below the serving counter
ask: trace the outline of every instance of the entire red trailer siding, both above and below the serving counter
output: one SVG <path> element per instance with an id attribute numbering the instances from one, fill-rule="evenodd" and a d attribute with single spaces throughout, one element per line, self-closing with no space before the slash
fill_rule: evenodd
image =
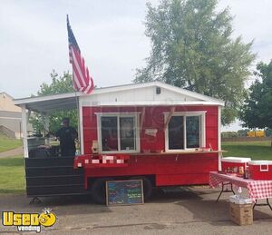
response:
<path id="1" fill-rule="evenodd" d="M 218 107 L 178 106 L 175 112 L 206 111 L 206 146 L 218 150 Z M 97 117 L 95 113 L 141 113 L 142 107 L 83 107 L 83 138 L 85 154 L 92 153 L 92 141 L 97 140 Z M 158 129 L 156 137 L 141 132 L 141 152 L 143 150 L 164 150 L 164 114 L 170 107 L 146 107 L 142 130 Z M 141 115 L 140 115 L 141 120 Z M 111 153 L 111 155 L 114 155 Z M 209 183 L 209 171 L 218 171 L 219 157 L 216 152 L 145 154 L 133 153 L 127 167 L 85 168 L 85 187 L 88 179 L 116 176 L 155 176 L 156 186 L 192 185 Z"/>

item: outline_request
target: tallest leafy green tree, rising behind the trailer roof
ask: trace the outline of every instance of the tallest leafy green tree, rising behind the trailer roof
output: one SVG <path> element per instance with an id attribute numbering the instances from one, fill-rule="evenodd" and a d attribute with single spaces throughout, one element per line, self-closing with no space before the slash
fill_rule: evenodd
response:
<path id="1" fill-rule="evenodd" d="M 148 4 L 146 35 L 151 38 L 147 65 L 135 83 L 160 80 L 225 101 L 222 123 L 235 120 L 245 97 L 248 67 L 255 59 L 252 42 L 232 34 L 228 8 L 216 0 L 161 0 Z"/>

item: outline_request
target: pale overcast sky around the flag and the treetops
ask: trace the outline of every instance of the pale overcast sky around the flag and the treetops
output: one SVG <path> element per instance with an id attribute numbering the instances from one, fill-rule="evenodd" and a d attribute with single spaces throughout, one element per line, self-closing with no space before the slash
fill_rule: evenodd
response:
<path id="1" fill-rule="evenodd" d="M 159 0 L 151 0 L 158 5 Z M 1 0 L 0 92 L 15 98 L 36 94 L 51 83 L 53 69 L 72 71 L 66 15 L 98 87 L 131 83 L 151 51 L 145 36 L 145 0 Z M 233 36 L 254 40 L 256 63 L 272 58 L 270 0 L 219 0 L 234 15 Z M 250 80 L 248 85 L 250 84 Z"/>

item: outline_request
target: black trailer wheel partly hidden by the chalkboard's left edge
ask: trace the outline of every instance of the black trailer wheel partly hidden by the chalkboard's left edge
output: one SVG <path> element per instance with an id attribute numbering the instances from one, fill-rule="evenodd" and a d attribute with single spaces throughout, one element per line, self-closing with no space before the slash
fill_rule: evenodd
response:
<path id="1" fill-rule="evenodd" d="M 106 181 L 113 181 L 112 178 L 99 178 L 92 182 L 91 192 L 93 201 L 106 203 Z"/>

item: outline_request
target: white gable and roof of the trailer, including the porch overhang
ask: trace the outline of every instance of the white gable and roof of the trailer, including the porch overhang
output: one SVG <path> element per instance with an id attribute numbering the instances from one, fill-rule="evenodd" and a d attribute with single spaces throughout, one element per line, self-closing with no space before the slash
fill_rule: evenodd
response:
<path id="1" fill-rule="evenodd" d="M 160 88 L 160 93 L 156 93 L 157 87 Z M 92 94 L 61 93 L 15 99 L 15 104 L 25 104 L 27 109 L 50 113 L 58 109 L 75 109 L 78 100 L 81 104 L 90 106 L 224 105 L 218 99 L 158 81 L 96 88 Z"/>

